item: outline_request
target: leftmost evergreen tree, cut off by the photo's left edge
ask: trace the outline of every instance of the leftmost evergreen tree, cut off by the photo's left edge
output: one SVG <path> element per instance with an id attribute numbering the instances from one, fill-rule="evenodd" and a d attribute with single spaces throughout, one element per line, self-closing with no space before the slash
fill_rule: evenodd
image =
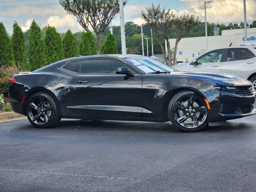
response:
<path id="1" fill-rule="evenodd" d="M 0 22 L 0 67 L 13 66 L 14 54 L 12 43 L 8 37 L 4 24 Z"/>

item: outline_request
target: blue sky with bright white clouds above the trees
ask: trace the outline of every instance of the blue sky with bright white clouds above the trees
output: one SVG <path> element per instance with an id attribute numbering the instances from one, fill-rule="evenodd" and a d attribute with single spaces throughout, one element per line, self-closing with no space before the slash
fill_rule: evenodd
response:
<path id="1" fill-rule="evenodd" d="M 228 24 L 244 20 L 243 0 L 211 0 L 207 4 L 207 21 Z M 204 0 L 129 0 L 124 8 L 125 22 L 142 24 L 141 11 L 152 3 L 170 8 L 176 14 L 195 14 L 204 22 Z M 256 0 L 246 0 L 247 22 L 256 20 Z M 82 31 L 76 17 L 66 14 L 58 0 L 0 0 L 0 22 L 12 34 L 12 24 L 17 21 L 25 32 L 35 19 L 42 28 L 55 26 L 58 32 Z M 120 25 L 119 15 L 113 25 Z"/>

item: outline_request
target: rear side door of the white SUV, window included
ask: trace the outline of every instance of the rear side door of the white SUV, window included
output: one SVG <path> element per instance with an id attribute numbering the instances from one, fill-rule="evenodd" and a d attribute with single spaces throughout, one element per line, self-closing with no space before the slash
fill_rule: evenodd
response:
<path id="1" fill-rule="evenodd" d="M 246 79 L 255 70 L 256 56 L 247 48 L 228 48 L 221 66 L 221 72 Z"/>

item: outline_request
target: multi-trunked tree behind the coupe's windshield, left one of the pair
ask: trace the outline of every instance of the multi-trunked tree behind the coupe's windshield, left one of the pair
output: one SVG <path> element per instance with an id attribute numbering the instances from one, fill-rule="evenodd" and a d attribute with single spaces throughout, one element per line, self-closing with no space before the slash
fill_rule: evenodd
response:
<path id="1" fill-rule="evenodd" d="M 141 15 L 142 19 L 144 19 L 146 23 L 150 24 L 154 30 L 154 36 L 161 46 L 166 63 L 168 63 L 169 66 L 172 66 L 172 55 L 169 42 L 170 35 L 175 30 L 173 23 L 174 15 L 172 11 L 170 9 L 166 10 L 165 8 L 161 9 L 160 4 L 158 6 L 152 4 L 151 7 L 146 7 L 146 12 L 142 11 Z M 167 42 L 168 56 L 166 56 L 165 51 L 163 50 L 162 42 L 160 41 L 161 38 L 159 37 L 160 35 L 162 35 Z M 158 38 L 156 36 L 158 36 Z"/>

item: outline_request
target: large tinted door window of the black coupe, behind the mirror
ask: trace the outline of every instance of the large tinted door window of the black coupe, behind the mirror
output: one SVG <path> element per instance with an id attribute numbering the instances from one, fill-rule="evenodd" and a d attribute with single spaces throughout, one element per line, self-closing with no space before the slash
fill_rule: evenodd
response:
<path id="1" fill-rule="evenodd" d="M 116 69 L 126 67 L 122 63 L 108 59 L 92 59 L 81 62 L 81 74 L 116 74 Z"/>

